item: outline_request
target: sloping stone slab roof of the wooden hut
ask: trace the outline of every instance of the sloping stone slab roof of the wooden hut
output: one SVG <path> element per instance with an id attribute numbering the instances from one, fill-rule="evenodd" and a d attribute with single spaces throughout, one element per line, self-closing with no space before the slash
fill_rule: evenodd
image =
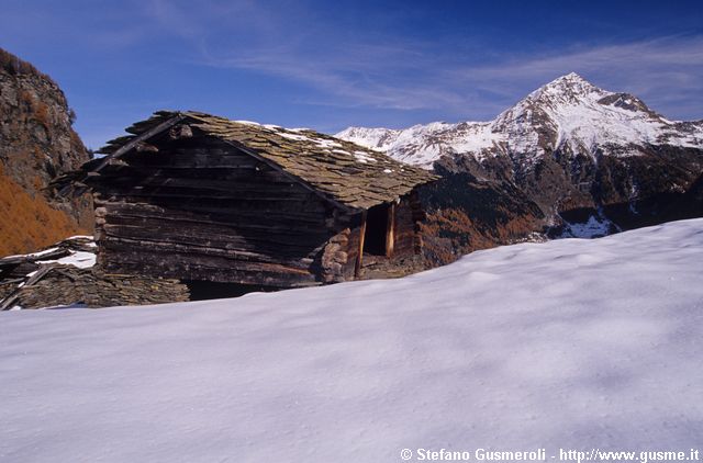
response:
<path id="1" fill-rule="evenodd" d="M 192 111 L 154 113 L 150 118 L 126 128 L 131 135 L 109 142 L 100 153 L 108 158 L 119 157 L 135 142 L 146 140 L 177 124 L 188 124 L 227 142 L 346 208 L 366 210 L 391 202 L 416 185 L 436 179 L 427 170 L 311 129 L 230 121 Z"/>

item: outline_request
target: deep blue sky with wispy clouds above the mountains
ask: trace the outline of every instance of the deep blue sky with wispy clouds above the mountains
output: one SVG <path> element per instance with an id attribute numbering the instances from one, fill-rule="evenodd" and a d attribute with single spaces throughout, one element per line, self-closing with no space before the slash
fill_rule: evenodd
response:
<path id="1" fill-rule="evenodd" d="M 570 71 L 703 117 L 700 1 L 0 0 L 92 148 L 159 109 L 334 133 L 490 120 Z"/>

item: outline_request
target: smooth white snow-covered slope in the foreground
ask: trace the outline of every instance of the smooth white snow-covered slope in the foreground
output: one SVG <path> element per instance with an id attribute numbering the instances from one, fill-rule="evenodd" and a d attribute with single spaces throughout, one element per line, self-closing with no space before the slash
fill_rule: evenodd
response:
<path id="1" fill-rule="evenodd" d="M 0 461 L 688 452 L 703 436 L 702 250 L 693 219 L 393 281 L 2 313 Z"/>

